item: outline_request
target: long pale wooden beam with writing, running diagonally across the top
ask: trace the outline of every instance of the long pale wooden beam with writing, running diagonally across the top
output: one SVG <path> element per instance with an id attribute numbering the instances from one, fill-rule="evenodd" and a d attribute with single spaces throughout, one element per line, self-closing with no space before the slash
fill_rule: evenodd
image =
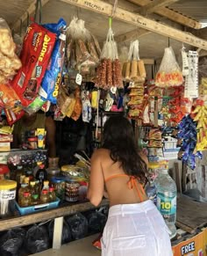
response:
<path id="1" fill-rule="evenodd" d="M 62 2 L 73 4 L 89 11 L 95 11 L 97 13 L 111 17 L 113 6 L 106 4 L 101 0 L 61 0 Z M 145 18 L 139 14 L 132 13 L 131 11 L 125 11 L 121 8 L 117 8 L 114 17 L 123 22 L 131 24 L 133 26 L 139 26 L 154 33 L 160 33 L 163 36 L 182 41 L 196 48 L 207 49 L 207 40 L 202 40 L 196 36 L 182 32 L 159 22 L 156 22 L 150 18 Z"/>

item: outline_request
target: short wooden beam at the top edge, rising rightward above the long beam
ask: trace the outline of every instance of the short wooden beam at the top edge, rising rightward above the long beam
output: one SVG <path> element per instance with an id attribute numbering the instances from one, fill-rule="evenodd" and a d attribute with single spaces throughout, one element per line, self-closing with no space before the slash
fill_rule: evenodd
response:
<path id="1" fill-rule="evenodd" d="M 139 13 L 142 15 L 146 15 L 158 10 L 161 7 L 165 7 L 169 4 L 174 4 L 175 2 L 178 2 L 178 1 L 179 0 L 153 0 L 153 2 L 144 5 L 140 9 Z"/>

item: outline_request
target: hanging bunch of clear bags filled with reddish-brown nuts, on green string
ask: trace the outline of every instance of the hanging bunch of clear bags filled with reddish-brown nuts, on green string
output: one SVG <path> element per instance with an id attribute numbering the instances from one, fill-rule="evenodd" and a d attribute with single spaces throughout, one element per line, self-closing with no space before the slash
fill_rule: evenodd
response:
<path id="1" fill-rule="evenodd" d="M 123 88 L 121 64 L 118 59 L 118 48 L 111 29 L 110 18 L 110 28 L 103 45 L 101 62 L 96 72 L 96 87 L 107 90 L 112 86 Z"/>

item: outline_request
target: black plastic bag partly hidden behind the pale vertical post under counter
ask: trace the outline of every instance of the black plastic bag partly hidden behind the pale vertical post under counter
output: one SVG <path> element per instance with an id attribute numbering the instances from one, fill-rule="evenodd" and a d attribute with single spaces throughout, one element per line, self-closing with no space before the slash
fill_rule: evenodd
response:
<path id="1" fill-rule="evenodd" d="M 54 220 L 52 220 L 48 225 L 49 239 L 53 241 L 54 238 Z M 61 236 L 61 244 L 67 244 L 72 240 L 71 231 L 68 223 L 64 220 Z"/>

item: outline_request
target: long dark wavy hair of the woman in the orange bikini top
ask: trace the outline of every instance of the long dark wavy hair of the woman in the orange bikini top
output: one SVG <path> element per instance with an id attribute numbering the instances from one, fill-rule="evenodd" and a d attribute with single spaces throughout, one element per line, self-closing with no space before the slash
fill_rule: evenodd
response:
<path id="1" fill-rule="evenodd" d="M 114 162 L 120 162 L 126 174 L 146 183 L 146 163 L 139 156 L 132 124 L 125 117 L 114 116 L 105 122 L 103 149 L 111 151 L 111 159 Z"/>

